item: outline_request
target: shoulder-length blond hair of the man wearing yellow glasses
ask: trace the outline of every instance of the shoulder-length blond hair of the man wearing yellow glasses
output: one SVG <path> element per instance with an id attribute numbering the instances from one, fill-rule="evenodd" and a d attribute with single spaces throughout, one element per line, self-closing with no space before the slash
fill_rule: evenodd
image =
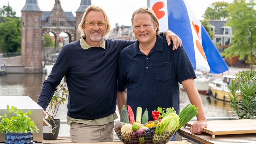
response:
<path id="1" fill-rule="evenodd" d="M 105 36 L 107 36 L 108 33 L 109 33 L 109 31 L 110 31 L 109 19 L 108 19 L 107 15 L 106 15 L 105 11 L 103 10 L 103 8 L 101 8 L 101 7 L 99 7 L 99 6 L 95 6 L 95 5 L 90 5 L 90 6 L 86 9 L 86 11 L 84 12 L 84 15 L 83 15 L 83 17 L 82 17 L 82 19 L 81 19 L 81 21 L 80 21 L 80 24 L 79 24 L 78 27 L 77 27 L 77 31 L 80 33 L 80 36 L 82 36 L 83 38 L 86 37 L 86 34 L 85 34 L 85 32 L 83 31 L 83 25 L 85 24 L 85 18 L 86 18 L 86 16 L 87 16 L 87 14 L 88 14 L 89 11 L 99 11 L 99 12 L 101 12 L 101 13 L 103 14 L 104 19 L 105 19 L 105 21 L 106 21 L 106 25 L 107 25 L 107 29 L 106 29 Z"/>

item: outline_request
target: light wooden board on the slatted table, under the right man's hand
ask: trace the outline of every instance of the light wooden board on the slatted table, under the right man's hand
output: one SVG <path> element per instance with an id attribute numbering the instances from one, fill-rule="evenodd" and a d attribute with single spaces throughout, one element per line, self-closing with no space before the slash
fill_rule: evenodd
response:
<path id="1" fill-rule="evenodd" d="M 195 121 L 189 121 L 186 126 L 191 127 Z M 241 133 L 256 133 L 256 119 L 245 120 L 211 120 L 203 132 L 210 135 L 231 135 Z"/>

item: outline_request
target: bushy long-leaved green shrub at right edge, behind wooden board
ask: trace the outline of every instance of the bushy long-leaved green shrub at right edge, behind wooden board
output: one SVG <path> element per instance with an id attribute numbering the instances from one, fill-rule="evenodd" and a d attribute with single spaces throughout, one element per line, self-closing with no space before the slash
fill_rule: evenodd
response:
<path id="1" fill-rule="evenodd" d="M 239 119 L 256 119 L 256 70 L 235 73 L 228 85 L 231 101 L 229 108 Z"/>

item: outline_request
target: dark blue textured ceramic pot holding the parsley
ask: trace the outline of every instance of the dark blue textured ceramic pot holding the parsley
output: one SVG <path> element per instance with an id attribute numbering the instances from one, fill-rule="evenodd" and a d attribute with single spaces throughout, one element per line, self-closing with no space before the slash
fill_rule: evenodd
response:
<path id="1" fill-rule="evenodd" d="M 31 132 L 8 132 L 5 133 L 5 144 L 33 144 L 33 135 Z"/>

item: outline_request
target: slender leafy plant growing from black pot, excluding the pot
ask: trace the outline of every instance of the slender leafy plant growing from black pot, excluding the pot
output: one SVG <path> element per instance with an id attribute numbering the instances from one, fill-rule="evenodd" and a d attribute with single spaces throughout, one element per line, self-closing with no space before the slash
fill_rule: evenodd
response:
<path id="1" fill-rule="evenodd" d="M 64 104 L 68 97 L 68 89 L 65 88 L 66 85 L 64 84 L 59 84 L 58 87 L 56 88 L 55 94 L 52 96 L 52 99 L 48 105 L 48 109 L 46 109 L 45 113 L 47 115 L 48 121 L 53 121 L 54 127 L 52 128 L 52 135 L 55 134 L 56 132 L 56 121 L 55 121 L 55 116 L 57 115 L 57 112 L 59 110 L 59 106 L 61 104 Z M 61 95 L 60 95 L 61 93 Z"/>

